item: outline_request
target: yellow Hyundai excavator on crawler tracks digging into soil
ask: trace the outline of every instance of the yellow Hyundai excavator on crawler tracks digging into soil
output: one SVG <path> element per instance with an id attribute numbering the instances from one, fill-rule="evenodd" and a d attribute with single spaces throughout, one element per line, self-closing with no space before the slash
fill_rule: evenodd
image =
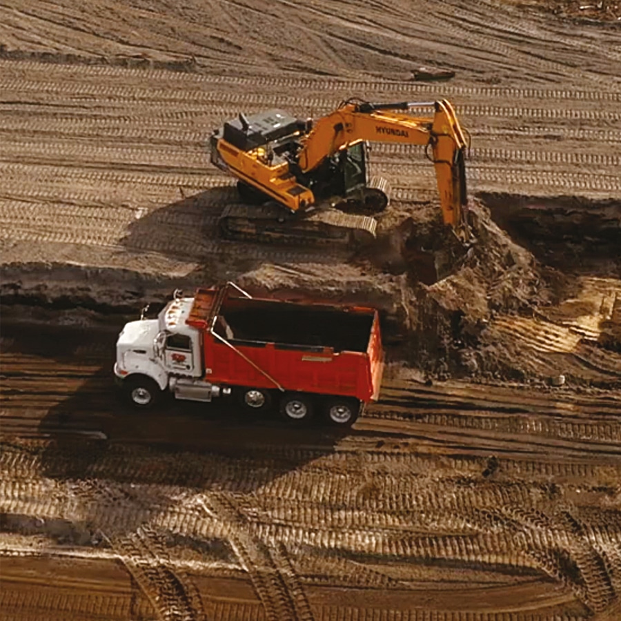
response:
<path id="1" fill-rule="evenodd" d="M 413 115 L 426 107 L 433 115 Z M 237 179 L 241 202 L 222 212 L 220 235 L 295 244 L 374 239 L 373 215 L 388 206 L 388 182 L 368 174 L 369 142 L 424 145 L 435 166 L 444 224 L 462 241 L 469 239 L 464 164 L 469 141 L 445 99 L 348 99 L 314 122 L 283 110 L 241 113 L 226 121 L 210 138 L 210 159 Z"/>

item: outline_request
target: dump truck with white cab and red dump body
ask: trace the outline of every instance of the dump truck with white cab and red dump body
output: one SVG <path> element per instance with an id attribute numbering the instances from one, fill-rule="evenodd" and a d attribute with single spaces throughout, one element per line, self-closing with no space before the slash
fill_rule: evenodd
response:
<path id="1" fill-rule="evenodd" d="M 126 324 L 115 375 L 132 404 L 164 393 L 248 411 L 278 407 L 287 420 L 322 415 L 351 425 L 377 400 L 384 351 L 377 311 L 251 297 L 233 283 L 177 293 L 157 319 Z"/>

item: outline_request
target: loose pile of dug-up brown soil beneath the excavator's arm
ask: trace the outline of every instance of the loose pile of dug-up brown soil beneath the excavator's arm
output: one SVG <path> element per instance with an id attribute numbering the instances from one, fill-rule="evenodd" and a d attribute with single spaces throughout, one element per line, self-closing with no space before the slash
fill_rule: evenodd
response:
<path id="1" fill-rule="evenodd" d="M 409 218 L 380 235 L 377 247 L 353 264 L 332 270 L 263 265 L 238 282 L 255 294 L 375 306 L 382 311 L 386 341 L 395 345 L 393 357 L 438 377 L 472 375 L 478 368 L 472 351 L 488 322 L 497 313 L 531 313 L 549 304 L 553 279 L 563 277 L 515 244 L 484 206 L 474 204 L 471 215 L 475 242 L 467 250 L 439 225 Z M 418 277 L 419 255 L 408 253 L 408 246 L 428 248 L 431 240 L 443 248 L 436 264 L 444 270 L 452 265 L 445 277 L 425 284 Z"/>

